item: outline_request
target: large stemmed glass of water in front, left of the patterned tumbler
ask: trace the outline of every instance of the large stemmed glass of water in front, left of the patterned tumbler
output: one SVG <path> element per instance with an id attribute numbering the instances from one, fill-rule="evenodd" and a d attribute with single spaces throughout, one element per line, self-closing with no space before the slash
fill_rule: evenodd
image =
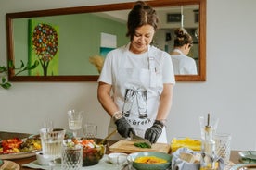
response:
<path id="1" fill-rule="evenodd" d="M 61 128 L 40 129 L 40 138 L 42 142 L 42 150 L 45 157 L 51 159 L 49 162 L 50 169 L 53 170 L 56 159 L 61 157 L 61 144 L 65 137 L 65 130 Z"/>

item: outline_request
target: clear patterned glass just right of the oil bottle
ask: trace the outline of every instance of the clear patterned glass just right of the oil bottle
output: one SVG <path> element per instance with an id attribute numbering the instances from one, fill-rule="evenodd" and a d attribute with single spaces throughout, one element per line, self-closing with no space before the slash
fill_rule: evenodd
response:
<path id="1" fill-rule="evenodd" d="M 214 135 L 216 154 L 224 159 L 224 163 L 228 164 L 230 159 L 230 143 L 231 134 L 228 133 L 216 133 Z"/>

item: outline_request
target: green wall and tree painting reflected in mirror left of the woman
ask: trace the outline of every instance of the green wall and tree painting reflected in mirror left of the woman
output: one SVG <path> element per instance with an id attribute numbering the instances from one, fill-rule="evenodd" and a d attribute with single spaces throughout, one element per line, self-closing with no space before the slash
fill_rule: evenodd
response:
<path id="1" fill-rule="evenodd" d="M 42 26 L 38 29 L 39 24 Z M 124 23 L 98 17 L 94 13 L 18 18 L 13 20 L 13 25 L 16 65 L 20 60 L 33 63 L 40 57 L 42 58 L 40 60 L 44 60 L 42 55 L 51 57 L 47 75 L 44 75 L 43 66 L 45 65 L 41 62 L 41 66 L 23 76 L 98 75 L 96 67 L 89 62 L 89 57 L 102 55 L 104 50 L 121 46 L 128 41 L 125 37 Z M 58 38 L 47 38 L 44 30 L 46 31 L 49 27 L 53 30 L 55 28 Z M 45 34 L 45 37 L 42 38 L 42 34 Z M 110 40 L 108 40 L 109 36 Z M 112 37 L 114 37 L 113 40 L 111 40 Z M 112 41 L 111 43 L 114 44 L 107 46 L 109 44 L 106 45 L 108 43 L 106 41 Z M 54 43 L 58 43 L 58 46 L 56 49 L 51 49 Z"/>

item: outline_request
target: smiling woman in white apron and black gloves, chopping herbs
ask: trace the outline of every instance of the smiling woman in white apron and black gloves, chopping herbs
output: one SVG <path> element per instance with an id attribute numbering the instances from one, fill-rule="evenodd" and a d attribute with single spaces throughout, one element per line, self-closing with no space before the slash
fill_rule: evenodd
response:
<path id="1" fill-rule="evenodd" d="M 109 52 L 98 79 L 98 100 L 112 117 L 109 131 L 117 128 L 119 139 L 134 133 L 167 142 L 164 126 L 175 80 L 170 55 L 150 45 L 158 22 L 154 9 L 136 2 L 127 21 L 130 42 Z"/>

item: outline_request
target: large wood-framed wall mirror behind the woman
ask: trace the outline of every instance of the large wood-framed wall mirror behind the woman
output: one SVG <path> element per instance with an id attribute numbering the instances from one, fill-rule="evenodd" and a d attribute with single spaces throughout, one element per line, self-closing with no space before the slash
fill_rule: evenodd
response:
<path id="1" fill-rule="evenodd" d="M 181 24 L 193 37 L 193 49 L 189 55 L 196 60 L 198 74 L 175 75 L 176 81 L 204 81 L 205 0 L 158 0 L 148 1 L 147 4 L 153 6 L 160 17 L 160 30 L 156 33 L 154 45 L 170 53 L 173 49 L 173 30 Z M 10 67 L 8 79 L 96 81 L 99 73 L 96 64 L 89 61 L 90 57 L 104 59 L 109 50 L 129 41 L 125 37 L 126 19 L 133 6 L 134 2 L 6 14 L 8 61 L 19 67 L 21 61 L 32 65 L 41 57 L 38 67 L 20 74 L 19 70 Z M 50 36 L 45 30 L 51 32 Z M 42 33 L 47 38 L 39 42 L 36 37 Z"/>

